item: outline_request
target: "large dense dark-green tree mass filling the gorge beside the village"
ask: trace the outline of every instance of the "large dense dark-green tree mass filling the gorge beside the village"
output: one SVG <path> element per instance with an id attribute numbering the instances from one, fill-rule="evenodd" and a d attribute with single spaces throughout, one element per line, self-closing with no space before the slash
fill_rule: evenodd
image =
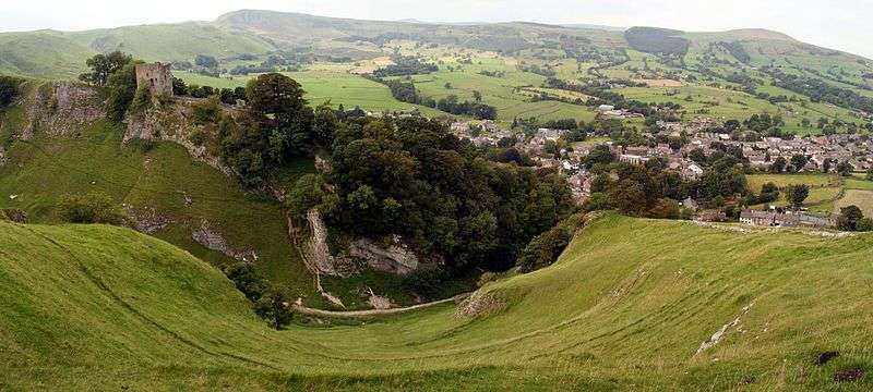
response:
<path id="1" fill-rule="evenodd" d="M 324 185 L 298 182 L 297 215 L 318 207 L 344 232 L 399 235 L 419 254 L 443 257 L 451 272 L 512 267 L 534 236 L 573 209 L 557 173 L 489 162 L 445 124 L 422 118 L 342 123 L 331 162 Z"/>

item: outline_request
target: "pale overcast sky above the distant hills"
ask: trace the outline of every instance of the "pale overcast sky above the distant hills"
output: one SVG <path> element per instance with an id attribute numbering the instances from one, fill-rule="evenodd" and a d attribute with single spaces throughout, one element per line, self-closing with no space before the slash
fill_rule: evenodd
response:
<path id="1" fill-rule="evenodd" d="M 210 21 L 239 9 L 355 19 L 589 23 L 684 30 L 762 27 L 873 58 L 873 0 L 0 0 L 0 30 Z"/>

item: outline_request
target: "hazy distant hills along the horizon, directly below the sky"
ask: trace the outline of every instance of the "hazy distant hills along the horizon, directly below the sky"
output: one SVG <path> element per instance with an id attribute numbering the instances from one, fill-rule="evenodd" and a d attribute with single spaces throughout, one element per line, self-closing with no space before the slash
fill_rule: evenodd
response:
<path id="1" fill-rule="evenodd" d="M 645 29 L 645 28 L 644 28 Z M 631 47 L 655 52 L 653 40 L 625 40 L 629 32 L 620 27 L 538 23 L 441 24 L 421 21 L 362 21 L 262 10 L 241 10 L 224 14 L 213 22 L 189 22 L 127 26 L 86 32 L 40 30 L 0 33 L 0 72 L 35 77 L 74 78 L 84 69 L 84 60 L 96 53 L 123 50 L 148 61 L 191 60 L 195 54 L 229 59 L 237 54 L 262 54 L 272 50 L 309 48 L 325 56 L 367 59 L 381 53 L 366 46 L 391 39 L 452 45 L 479 50 L 513 53 L 538 48 L 560 48 L 572 40 L 574 50 L 621 49 Z M 650 32 L 650 30 L 649 30 Z M 633 36 L 633 35 L 632 35 Z M 642 38 L 641 36 L 636 36 Z M 570 40 L 569 40 L 570 39 Z M 848 61 L 861 59 L 836 50 L 799 42 L 784 34 L 765 29 L 723 33 L 683 33 L 673 44 L 687 40 L 694 48 L 716 40 L 742 41 L 750 51 L 768 61 L 784 56 L 811 54 Z M 680 48 L 681 47 L 681 48 Z M 682 49 L 680 47 L 673 47 Z M 662 48 L 661 48 L 662 49 Z M 679 50 L 682 52 L 683 50 Z M 840 59 L 844 61 L 846 59 Z"/>

